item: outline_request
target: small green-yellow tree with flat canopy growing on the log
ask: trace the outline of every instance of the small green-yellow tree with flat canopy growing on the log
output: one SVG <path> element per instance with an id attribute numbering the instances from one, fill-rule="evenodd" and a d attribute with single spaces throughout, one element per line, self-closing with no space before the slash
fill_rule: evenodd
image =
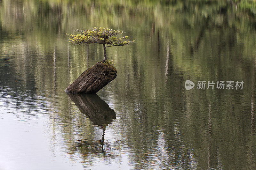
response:
<path id="1" fill-rule="evenodd" d="M 114 46 L 124 46 L 135 41 L 125 41 L 128 39 L 128 36 L 118 38 L 118 34 L 122 34 L 123 31 L 120 30 L 111 30 L 105 27 L 94 27 L 89 30 L 76 30 L 81 34 L 67 34 L 70 36 L 69 42 L 72 43 L 84 43 L 84 44 L 103 44 L 103 51 L 104 51 L 104 60 L 107 60 L 106 56 L 106 48 L 107 47 L 114 47 Z"/>

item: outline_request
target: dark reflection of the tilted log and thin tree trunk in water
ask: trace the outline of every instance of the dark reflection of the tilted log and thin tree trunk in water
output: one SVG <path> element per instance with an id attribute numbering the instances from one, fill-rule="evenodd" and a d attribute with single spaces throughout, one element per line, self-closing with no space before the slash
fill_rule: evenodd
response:
<path id="1" fill-rule="evenodd" d="M 97 94 L 67 94 L 70 99 L 74 101 L 82 114 L 84 114 L 94 125 L 98 125 L 103 128 L 101 151 L 104 152 L 103 144 L 105 129 L 108 124 L 115 120 L 116 112 L 112 110 Z M 87 142 L 79 142 L 75 144 L 75 147 L 81 149 L 82 147 L 88 148 L 87 145 Z"/>

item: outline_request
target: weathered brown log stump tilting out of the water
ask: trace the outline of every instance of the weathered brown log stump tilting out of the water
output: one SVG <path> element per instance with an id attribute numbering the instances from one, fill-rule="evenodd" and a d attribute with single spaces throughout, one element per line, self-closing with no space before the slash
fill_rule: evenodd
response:
<path id="1" fill-rule="evenodd" d="M 85 70 L 65 92 L 96 93 L 116 78 L 116 68 L 108 61 L 103 60 Z"/>

